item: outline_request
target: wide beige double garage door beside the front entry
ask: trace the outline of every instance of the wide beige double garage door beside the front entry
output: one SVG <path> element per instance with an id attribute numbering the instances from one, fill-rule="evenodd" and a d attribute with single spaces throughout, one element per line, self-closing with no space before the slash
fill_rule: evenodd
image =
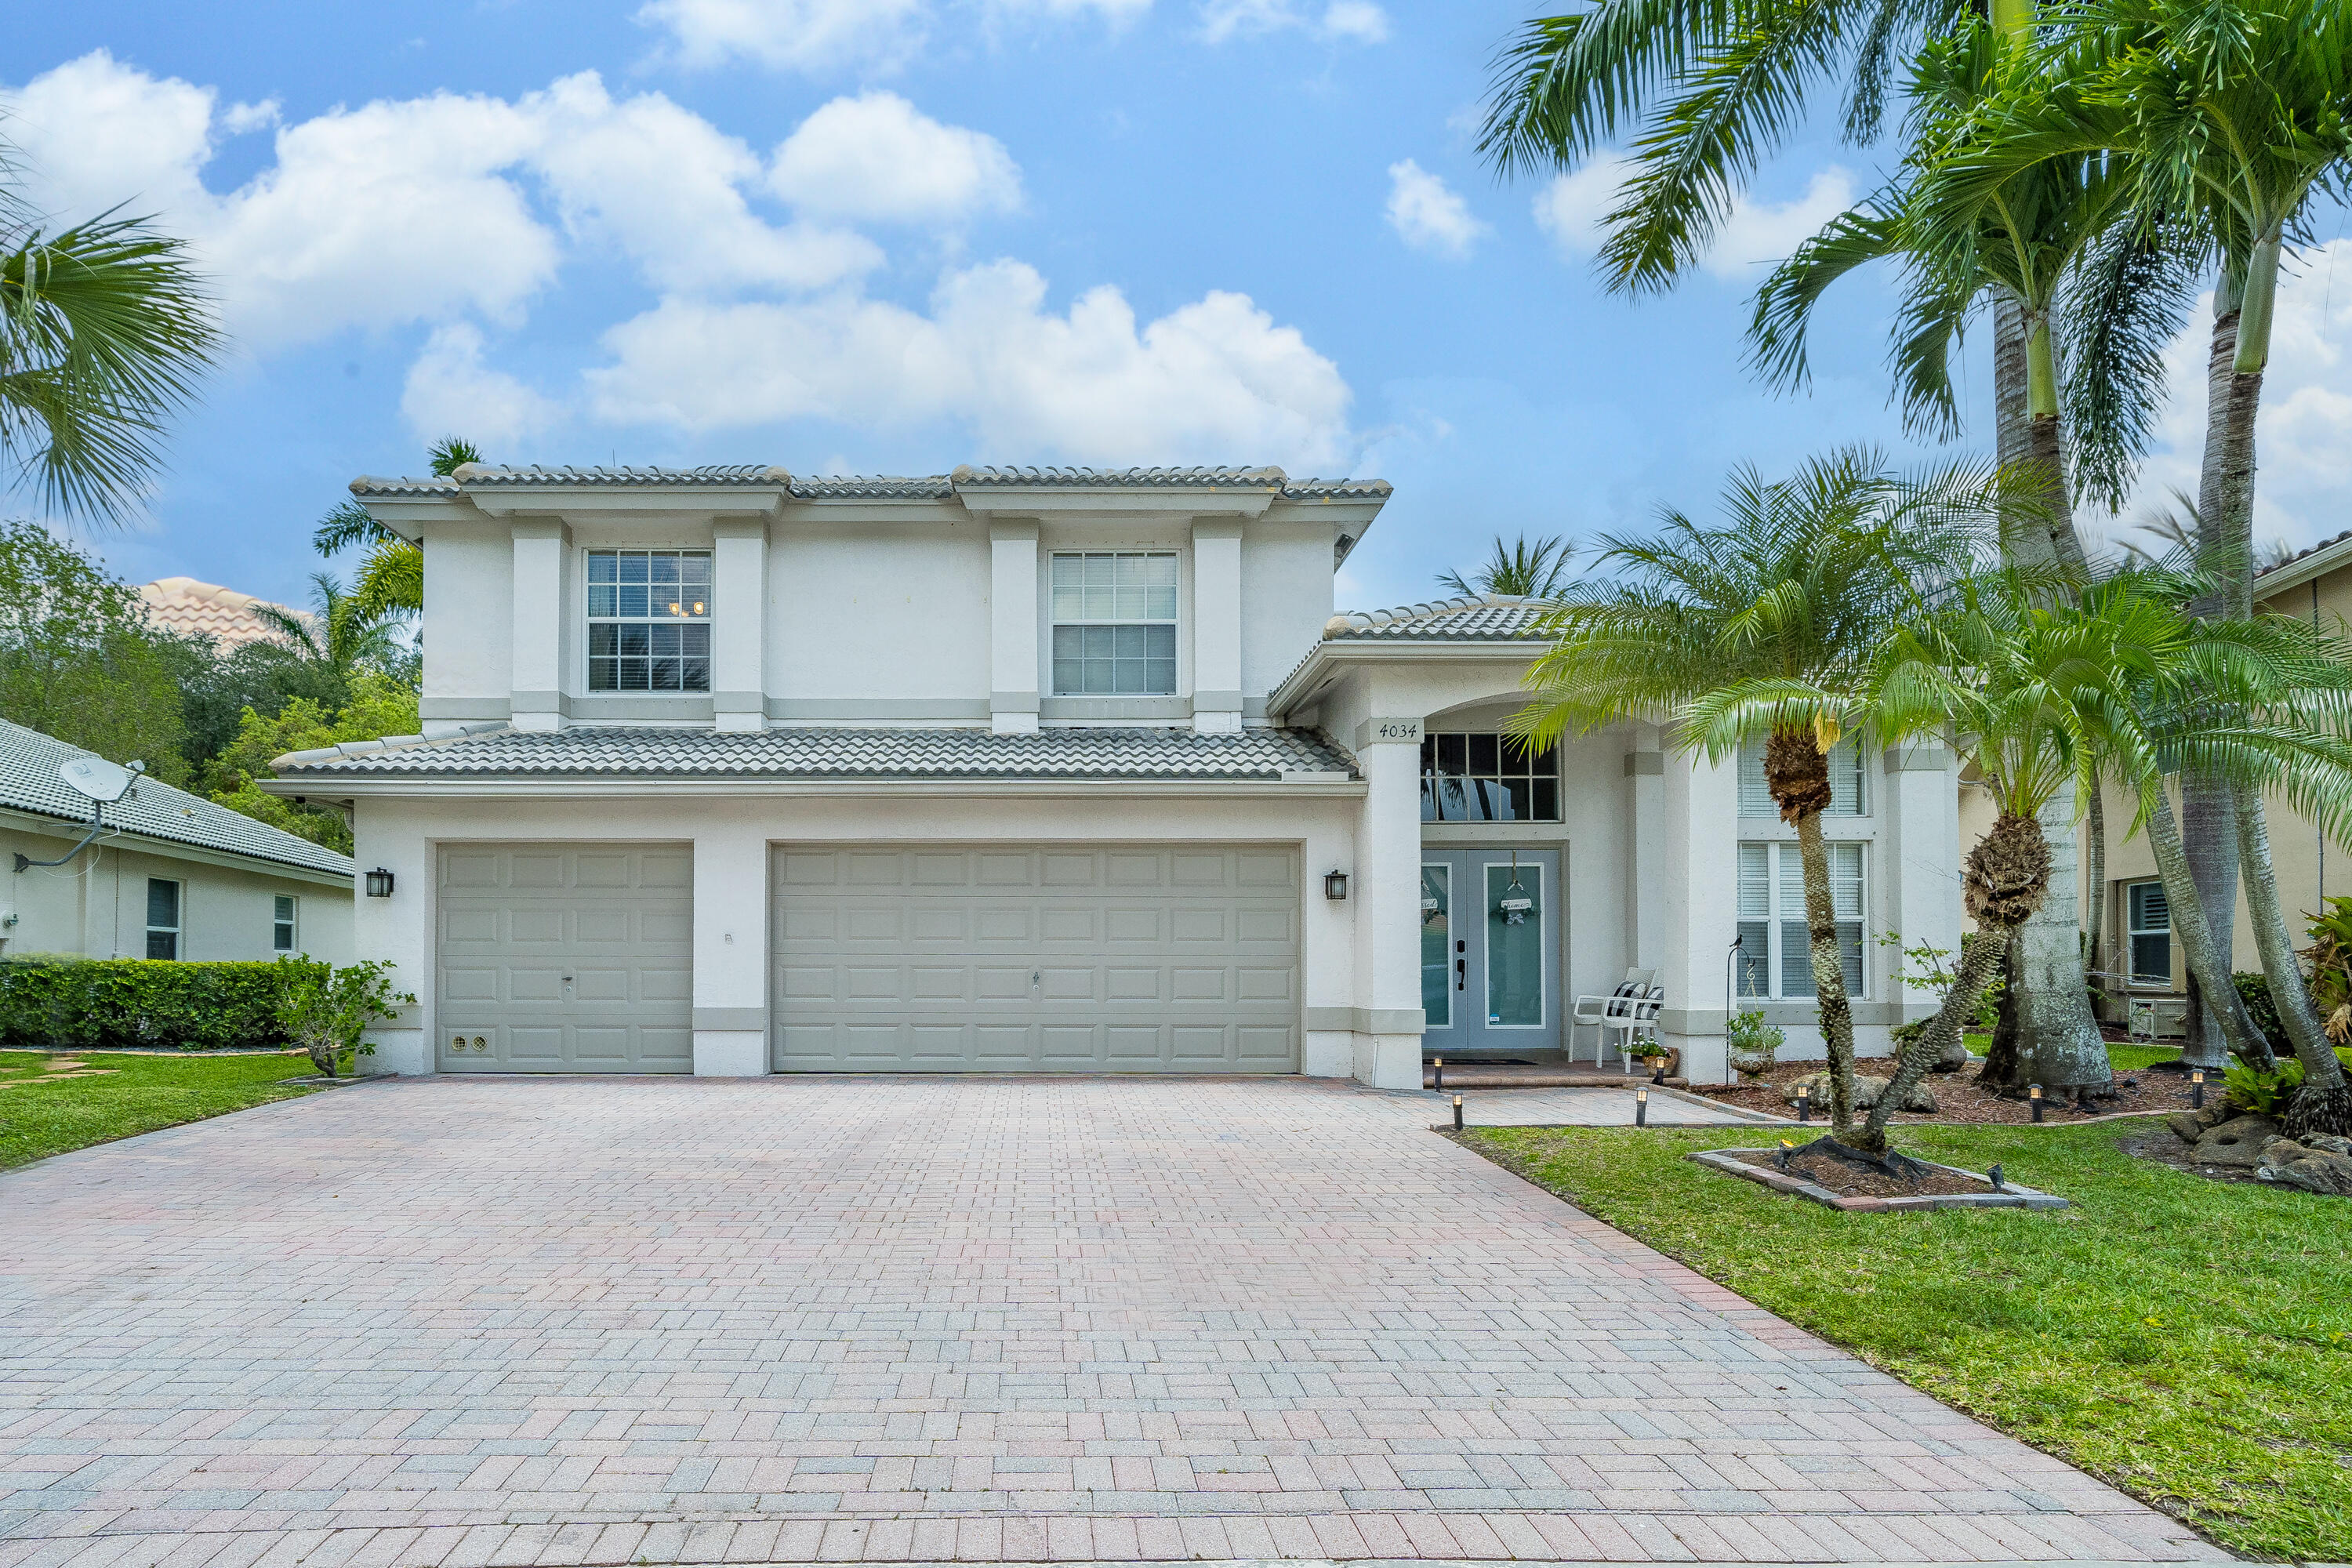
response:
<path id="1" fill-rule="evenodd" d="M 1296 1072 L 1282 846 L 783 846 L 779 1072 Z"/>

